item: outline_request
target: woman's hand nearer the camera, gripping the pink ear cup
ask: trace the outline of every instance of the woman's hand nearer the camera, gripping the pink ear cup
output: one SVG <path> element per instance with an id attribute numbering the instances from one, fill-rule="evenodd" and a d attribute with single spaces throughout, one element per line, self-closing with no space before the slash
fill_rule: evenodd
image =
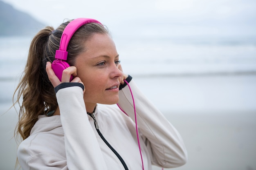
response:
<path id="1" fill-rule="evenodd" d="M 70 67 L 66 68 L 65 70 L 63 70 L 61 81 L 58 79 L 58 77 L 55 75 L 54 71 L 52 70 L 51 62 L 46 63 L 45 69 L 46 69 L 48 78 L 51 81 L 54 88 L 61 83 L 70 82 L 71 75 L 74 76 L 74 79 L 72 79 L 71 82 L 77 82 L 77 83 L 83 84 L 83 82 L 81 81 L 81 79 L 79 77 L 75 77 L 77 75 L 75 66 L 70 66 Z"/>

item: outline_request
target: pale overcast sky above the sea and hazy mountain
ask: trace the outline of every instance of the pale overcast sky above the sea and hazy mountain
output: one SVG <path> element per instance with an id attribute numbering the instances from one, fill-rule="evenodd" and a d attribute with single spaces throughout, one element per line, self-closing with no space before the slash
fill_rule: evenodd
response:
<path id="1" fill-rule="evenodd" d="M 55 28 L 94 18 L 120 35 L 256 36 L 256 0 L 3 0 Z"/>

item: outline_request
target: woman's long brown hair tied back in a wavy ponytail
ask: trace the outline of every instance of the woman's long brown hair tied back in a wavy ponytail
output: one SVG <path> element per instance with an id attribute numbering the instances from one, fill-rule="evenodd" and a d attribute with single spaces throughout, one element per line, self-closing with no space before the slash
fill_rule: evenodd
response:
<path id="1" fill-rule="evenodd" d="M 46 62 L 55 60 L 55 51 L 59 49 L 61 35 L 69 22 L 64 22 L 56 30 L 52 26 L 46 26 L 31 41 L 27 64 L 13 95 L 13 106 L 19 106 L 15 134 L 16 137 L 20 134 L 23 140 L 29 137 L 39 115 L 47 115 L 58 107 L 54 87 L 48 79 L 45 66 Z M 84 42 L 94 33 L 109 34 L 106 26 L 97 23 L 85 24 L 74 33 L 67 47 L 67 62 L 71 66 L 74 65 L 75 57 L 86 50 Z"/>

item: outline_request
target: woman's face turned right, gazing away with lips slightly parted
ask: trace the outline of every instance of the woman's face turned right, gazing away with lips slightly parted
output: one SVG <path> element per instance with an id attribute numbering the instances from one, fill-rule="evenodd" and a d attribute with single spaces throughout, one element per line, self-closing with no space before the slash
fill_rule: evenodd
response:
<path id="1" fill-rule="evenodd" d="M 119 101 L 119 55 L 112 38 L 96 33 L 84 44 L 85 52 L 76 57 L 77 77 L 85 86 L 85 105 L 116 104 Z"/>

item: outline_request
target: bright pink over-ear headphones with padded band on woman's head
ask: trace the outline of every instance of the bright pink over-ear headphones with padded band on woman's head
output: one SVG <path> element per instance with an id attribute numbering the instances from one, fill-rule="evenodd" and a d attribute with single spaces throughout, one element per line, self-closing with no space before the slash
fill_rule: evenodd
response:
<path id="1" fill-rule="evenodd" d="M 72 20 L 67 26 L 65 27 L 62 35 L 61 35 L 61 42 L 60 42 L 60 48 L 56 50 L 55 53 L 55 59 L 52 62 L 52 69 L 55 73 L 55 75 L 58 77 L 58 79 L 61 81 L 62 72 L 70 65 L 66 62 L 67 60 L 67 45 L 70 42 L 70 39 L 81 26 L 88 23 L 99 23 L 99 21 L 90 19 L 90 18 L 77 18 L 75 20 Z M 73 79 L 73 76 L 71 75 L 70 81 Z"/>

